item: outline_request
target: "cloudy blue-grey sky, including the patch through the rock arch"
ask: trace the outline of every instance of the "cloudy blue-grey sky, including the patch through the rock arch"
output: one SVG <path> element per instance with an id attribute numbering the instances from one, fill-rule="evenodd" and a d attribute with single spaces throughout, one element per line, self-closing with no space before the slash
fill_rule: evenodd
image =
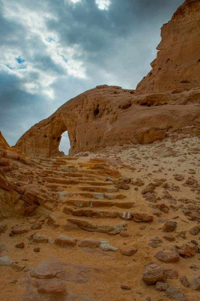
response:
<path id="1" fill-rule="evenodd" d="M 133 89 L 183 0 L 0 0 L 0 130 L 10 145 L 70 98 Z M 67 153 L 67 136 L 60 150 Z"/>

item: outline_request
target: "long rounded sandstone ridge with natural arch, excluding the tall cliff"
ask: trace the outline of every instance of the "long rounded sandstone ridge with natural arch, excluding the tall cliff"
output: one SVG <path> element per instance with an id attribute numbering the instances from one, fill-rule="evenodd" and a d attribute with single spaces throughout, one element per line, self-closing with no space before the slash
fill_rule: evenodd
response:
<path id="1" fill-rule="evenodd" d="M 32 126 L 17 141 L 16 148 L 30 156 L 59 155 L 61 134 L 67 130 L 70 154 L 162 140 L 170 128 L 196 129 L 200 118 L 200 107 L 195 103 L 197 93 L 192 90 L 179 94 L 142 94 L 115 86 L 98 86 Z"/>

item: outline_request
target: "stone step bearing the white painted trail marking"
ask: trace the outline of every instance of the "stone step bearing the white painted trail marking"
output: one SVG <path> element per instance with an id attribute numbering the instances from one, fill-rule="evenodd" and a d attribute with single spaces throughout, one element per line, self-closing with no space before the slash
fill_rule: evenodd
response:
<path id="1" fill-rule="evenodd" d="M 108 211 L 98 209 L 73 209 L 70 207 L 64 207 L 63 212 L 67 215 L 72 216 L 86 216 L 92 219 L 116 219 L 120 218 L 123 220 L 133 220 L 134 222 L 152 222 L 153 216 L 141 213 L 141 212 L 130 212 L 130 211 Z"/>

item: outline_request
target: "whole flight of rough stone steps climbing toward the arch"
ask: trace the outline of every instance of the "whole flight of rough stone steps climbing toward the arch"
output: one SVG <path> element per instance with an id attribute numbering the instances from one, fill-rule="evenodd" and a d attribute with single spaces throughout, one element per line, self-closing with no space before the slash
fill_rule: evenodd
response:
<path id="1" fill-rule="evenodd" d="M 84 162 L 86 159 L 81 162 L 78 159 L 39 159 L 40 164 L 44 166 L 40 175 L 47 187 L 57 191 L 59 196 L 56 212 L 48 216 L 48 225 L 66 229 L 68 223 L 68 232 L 73 237 L 73 232 L 81 229 L 115 235 L 126 230 L 134 222 L 153 220 L 152 216 L 145 214 L 140 214 L 138 218 L 137 213 L 130 209 L 135 203 L 127 199 L 127 190 L 123 190 L 121 194 L 121 189 L 116 188 L 112 178 L 109 178 L 110 175 L 118 178 L 118 171 L 105 162 L 103 164 L 102 160 L 98 163 L 98 159 L 88 162 Z M 69 161 L 73 165 L 69 166 Z M 88 233 L 86 237 L 88 238 Z"/>

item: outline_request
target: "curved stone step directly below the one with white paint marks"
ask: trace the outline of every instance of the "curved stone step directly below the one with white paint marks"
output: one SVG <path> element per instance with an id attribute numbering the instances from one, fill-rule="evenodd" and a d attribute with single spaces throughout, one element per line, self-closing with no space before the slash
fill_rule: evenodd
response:
<path id="1" fill-rule="evenodd" d="M 88 219 L 82 217 L 68 218 L 67 221 L 78 225 L 81 229 L 86 231 L 102 232 L 111 235 L 115 235 L 120 233 L 121 231 L 127 230 L 126 222 L 119 223 L 115 220 L 112 220 L 111 224 L 108 224 L 108 221 L 104 219 L 101 219 L 100 222 L 98 220 L 96 220 L 95 222 L 90 222 Z"/>

